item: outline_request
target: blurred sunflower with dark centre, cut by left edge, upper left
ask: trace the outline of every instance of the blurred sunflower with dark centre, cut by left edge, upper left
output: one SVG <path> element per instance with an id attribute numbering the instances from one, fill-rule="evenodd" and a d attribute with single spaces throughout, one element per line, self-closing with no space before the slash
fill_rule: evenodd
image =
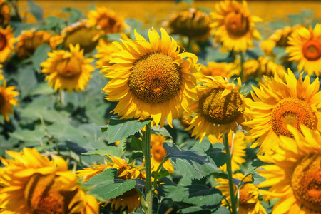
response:
<path id="1" fill-rule="evenodd" d="M 10 54 L 14 52 L 15 41 L 11 26 L 7 26 L 6 29 L 0 28 L 0 63 L 10 58 Z"/>

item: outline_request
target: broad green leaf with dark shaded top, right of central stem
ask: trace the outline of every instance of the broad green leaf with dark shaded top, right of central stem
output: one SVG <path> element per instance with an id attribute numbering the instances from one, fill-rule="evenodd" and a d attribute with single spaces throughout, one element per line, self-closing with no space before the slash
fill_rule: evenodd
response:
<path id="1" fill-rule="evenodd" d="M 174 143 L 168 142 L 163 143 L 163 147 L 167 151 L 165 158 L 170 158 L 175 170 L 180 171 L 185 176 L 200 180 L 205 175 L 220 171 L 210 157 L 198 150 L 184 151 Z"/>

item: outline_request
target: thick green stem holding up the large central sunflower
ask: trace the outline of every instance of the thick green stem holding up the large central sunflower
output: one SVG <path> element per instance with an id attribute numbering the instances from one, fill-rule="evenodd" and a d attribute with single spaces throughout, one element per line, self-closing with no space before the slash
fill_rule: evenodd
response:
<path id="1" fill-rule="evenodd" d="M 146 171 L 146 209 L 145 213 L 153 212 L 153 185 L 151 182 L 151 123 L 145 126 L 145 131 L 142 135 L 143 154 L 145 156 L 145 171 Z"/>

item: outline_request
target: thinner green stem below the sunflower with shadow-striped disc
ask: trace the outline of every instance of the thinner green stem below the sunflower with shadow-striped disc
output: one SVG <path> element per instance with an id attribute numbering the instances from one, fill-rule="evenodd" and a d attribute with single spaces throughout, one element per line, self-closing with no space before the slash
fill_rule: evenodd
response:
<path id="1" fill-rule="evenodd" d="M 228 145 L 228 133 L 225 133 L 223 136 L 223 144 L 225 146 L 226 154 L 228 155 L 228 162 L 226 163 L 226 168 L 228 171 L 228 187 L 230 188 L 230 201 L 231 201 L 231 208 L 232 213 L 237 214 L 236 210 L 236 200 L 235 200 L 235 194 L 234 194 L 234 182 L 233 182 L 233 176 L 232 176 L 232 156 L 230 154 L 230 146 Z"/>

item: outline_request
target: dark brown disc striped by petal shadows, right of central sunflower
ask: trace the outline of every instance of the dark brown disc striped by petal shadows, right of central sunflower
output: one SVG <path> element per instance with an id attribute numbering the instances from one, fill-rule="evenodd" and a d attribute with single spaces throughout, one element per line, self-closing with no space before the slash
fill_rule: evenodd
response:
<path id="1" fill-rule="evenodd" d="M 221 98 L 223 91 L 223 88 L 213 88 L 200 97 L 200 113 L 211 123 L 220 125 L 232 123 L 241 114 L 238 111 L 238 108 L 242 105 L 240 95 L 231 92 Z"/>

